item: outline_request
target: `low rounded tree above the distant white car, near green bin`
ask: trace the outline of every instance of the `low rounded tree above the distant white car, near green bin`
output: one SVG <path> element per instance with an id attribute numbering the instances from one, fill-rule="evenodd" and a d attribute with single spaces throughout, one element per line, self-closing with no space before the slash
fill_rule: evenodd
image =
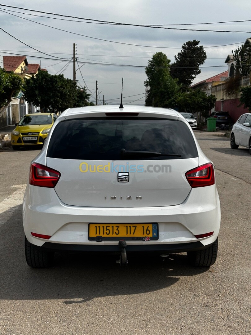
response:
<path id="1" fill-rule="evenodd" d="M 198 123 L 201 123 L 202 117 L 208 116 L 209 111 L 215 106 L 215 102 L 214 95 L 206 95 L 200 89 L 181 92 L 176 100 L 179 111 L 198 114 Z"/>

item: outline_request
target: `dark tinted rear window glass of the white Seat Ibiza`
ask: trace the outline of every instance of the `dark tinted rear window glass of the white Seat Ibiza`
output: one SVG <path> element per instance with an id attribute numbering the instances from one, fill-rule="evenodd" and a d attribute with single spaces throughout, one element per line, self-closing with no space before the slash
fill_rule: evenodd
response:
<path id="1" fill-rule="evenodd" d="M 122 155 L 121 149 L 177 156 Z M 188 126 L 182 121 L 149 118 L 89 118 L 62 121 L 55 127 L 48 157 L 61 159 L 137 160 L 198 157 Z"/>

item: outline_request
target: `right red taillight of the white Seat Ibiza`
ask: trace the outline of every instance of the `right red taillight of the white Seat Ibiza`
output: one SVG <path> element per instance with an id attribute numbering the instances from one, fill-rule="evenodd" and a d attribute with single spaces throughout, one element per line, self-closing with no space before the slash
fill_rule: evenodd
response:
<path id="1" fill-rule="evenodd" d="M 195 167 L 186 173 L 186 179 L 191 187 L 203 187 L 214 185 L 215 172 L 212 163 Z"/>

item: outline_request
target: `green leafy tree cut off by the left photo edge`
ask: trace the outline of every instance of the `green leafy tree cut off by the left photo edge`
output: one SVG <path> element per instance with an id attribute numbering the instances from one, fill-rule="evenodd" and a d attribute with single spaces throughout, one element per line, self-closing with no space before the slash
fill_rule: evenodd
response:
<path id="1" fill-rule="evenodd" d="M 7 73 L 0 68 L 0 110 L 9 105 L 11 98 L 16 96 L 22 86 L 22 79 L 13 72 Z"/>

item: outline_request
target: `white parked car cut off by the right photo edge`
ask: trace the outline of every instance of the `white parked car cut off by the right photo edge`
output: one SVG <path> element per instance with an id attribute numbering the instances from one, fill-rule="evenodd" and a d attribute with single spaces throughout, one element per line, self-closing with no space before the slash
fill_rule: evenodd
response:
<path id="1" fill-rule="evenodd" d="M 233 125 L 230 146 L 232 149 L 238 149 L 239 145 L 248 148 L 251 154 L 251 113 L 243 114 Z"/>

